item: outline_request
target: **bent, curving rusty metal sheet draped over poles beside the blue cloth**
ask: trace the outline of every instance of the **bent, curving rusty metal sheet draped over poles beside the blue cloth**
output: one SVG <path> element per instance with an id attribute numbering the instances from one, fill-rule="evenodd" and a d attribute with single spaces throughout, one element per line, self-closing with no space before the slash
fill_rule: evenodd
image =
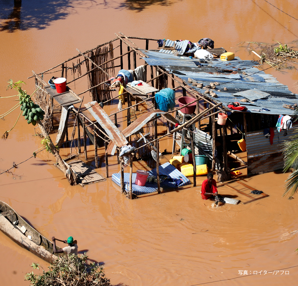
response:
<path id="1" fill-rule="evenodd" d="M 163 113 L 165 113 L 165 112 L 161 111 L 159 109 L 155 109 L 153 111 L 146 112 L 146 113 L 142 114 L 139 118 L 134 120 L 134 122 L 132 122 L 131 125 L 124 128 L 121 133 L 125 137 L 131 136 L 132 134 L 134 134 L 138 130 L 140 130 L 144 125 L 146 125 L 146 123 L 149 122 L 153 118 L 153 116 L 155 116 L 156 114 L 163 114 Z M 110 142 L 108 144 L 107 153 L 109 155 L 114 155 L 115 152 L 116 152 L 115 144 L 114 144 L 114 142 Z"/>

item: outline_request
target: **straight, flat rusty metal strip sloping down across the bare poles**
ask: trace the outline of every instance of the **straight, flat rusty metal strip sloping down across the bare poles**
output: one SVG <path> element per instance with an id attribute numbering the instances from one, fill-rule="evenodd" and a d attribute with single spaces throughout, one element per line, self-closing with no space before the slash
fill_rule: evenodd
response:
<path id="1" fill-rule="evenodd" d="M 120 130 L 112 122 L 108 114 L 105 113 L 96 101 L 88 102 L 84 105 L 100 126 L 105 130 L 105 133 L 118 147 L 125 146 L 128 143 Z"/>

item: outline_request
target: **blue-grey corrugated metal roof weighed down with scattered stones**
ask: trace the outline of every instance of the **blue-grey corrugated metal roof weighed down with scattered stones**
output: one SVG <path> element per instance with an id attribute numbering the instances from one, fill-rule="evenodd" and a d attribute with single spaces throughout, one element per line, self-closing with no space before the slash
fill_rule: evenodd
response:
<path id="1" fill-rule="evenodd" d="M 143 59 L 149 65 L 162 66 L 203 94 L 205 90 L 188 83 L 188 78 L 203 83 L 204 86 L 218 82 L 219 85 L 213 89 L 218 97 L 214 98 L 209 94 L 205 96 L 216 103 L 223 102 L 226 108 L 229 102 L 247 99 L 249 102 L 241 102 L 241 105 L 248 108 L 247 112 L 292 115 L 294 110 L 284 108 L 283 105 L 298 104 L 298 95 L 289 91 L 288 86 L 279 83 L 271 74 L 257 69 L 255 66 L 260 63 L 256 61 L 235 57 L 231 61 L 222 62 L 220 59 L 214 59 L 201 63 L 200 59 L 190 59 L 186 56 L 146 50 L 142 52 L 148 56 Z M 262 111 L 262 108 L 269 111 Z"/>

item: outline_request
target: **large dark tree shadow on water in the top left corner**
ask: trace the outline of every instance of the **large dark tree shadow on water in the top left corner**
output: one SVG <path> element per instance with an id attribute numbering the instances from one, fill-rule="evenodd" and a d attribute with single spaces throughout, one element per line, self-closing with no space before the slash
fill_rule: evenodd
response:
<path id="1" fill-rule="evenodd" d="M 52 21 L 77 13 L 77 8 L 95 5 L 95 0 L 0 0 L 0 31 L 45 29 Z"/>

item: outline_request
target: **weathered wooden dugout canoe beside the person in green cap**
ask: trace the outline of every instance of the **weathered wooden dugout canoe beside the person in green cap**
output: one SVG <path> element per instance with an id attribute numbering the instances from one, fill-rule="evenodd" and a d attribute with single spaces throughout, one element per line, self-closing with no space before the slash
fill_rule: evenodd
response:
<path id="1" fill-rule="evenodd" d="M 0 230 L 18 243 L 18 245 L 47 262 L 52 263 L 58 258 L 58 254 L 54 254 L 53 243 L 40 234 L 33 226 L 30 226 L 12 207 L 1 200 Z M 57 249 L 60 248 L 57 246 Z"/>

